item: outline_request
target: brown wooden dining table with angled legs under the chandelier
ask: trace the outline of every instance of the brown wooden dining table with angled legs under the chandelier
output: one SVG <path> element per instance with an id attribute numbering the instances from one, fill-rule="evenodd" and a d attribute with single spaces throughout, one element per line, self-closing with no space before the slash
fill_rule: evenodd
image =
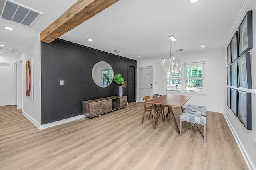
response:
<path id="1" fill-rule="evenodd" d="M 176 119 L 174 117 L 173 111 L 172 111 L 172 106 L 175 107 L 180 107 L 182 111 L 184 111 L 183 109 L 183 105 L 191 98 L 192 96 L 187 96 L 187 95 L 176 95 L 176 94 L 165 94 L 163 96 L 154 98 L 152 100 L 146 100 L 144 102 L 146 103 L 150 103 L 151 107 L 152 107 L 152 113 L 154 113 L 154 104 L 159 104 L 160 105 L 160 113 L 157 114 L 157 117 L 155 119 L 154 114 L 153 114 L 153 123 L 154 123 L 154 128 L 156 129 L 156 123 L 158 121 L 158 118 L 160 116 L 160 114 L 162 114 L 161 112 L 164 110 L 164 107 L 168 107 L 168 111 L 170 111 L 171 115 L 172 115 L 172 119 L 174 121 L 174 125 L 176 127 L 176 130 L 178 132 L 178 134 L 180 134 L 180 130 L 179 127 L 177 125 Z"/>

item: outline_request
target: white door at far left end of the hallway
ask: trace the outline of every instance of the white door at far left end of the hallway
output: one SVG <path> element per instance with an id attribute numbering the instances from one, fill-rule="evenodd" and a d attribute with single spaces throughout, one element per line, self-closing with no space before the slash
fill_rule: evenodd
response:
<path id="1" fill-rule="evenodd" d="M 11 64 L 0 63 L 0 106 L 11 104 Z"/>

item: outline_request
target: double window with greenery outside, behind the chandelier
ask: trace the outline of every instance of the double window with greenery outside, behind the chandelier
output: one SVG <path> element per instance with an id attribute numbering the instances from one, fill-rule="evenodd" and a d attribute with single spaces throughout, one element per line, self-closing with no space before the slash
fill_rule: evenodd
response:
<path id="1" fill-rule="evenodd" d="M 204 62 L 185 63 L 180 72 L 165 72 L 166 92 L 204 93 Z"/>

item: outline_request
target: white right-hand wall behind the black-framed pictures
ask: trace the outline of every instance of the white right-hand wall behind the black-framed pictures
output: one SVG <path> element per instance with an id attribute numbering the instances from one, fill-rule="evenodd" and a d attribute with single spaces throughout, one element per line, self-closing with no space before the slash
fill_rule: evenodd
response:
<path id="1" fill-rule="evenodd" d="M 253 28 L 253 48 L 250 50 L 251 55 L 251 68 L 252 68 L 252 90 L 247 90 L 243 88 L 236 88 L 238 90 L 247 91 L 252 93 L 252 130 L 247 130 L 244 125 L 238 120 L 238 118 L 234 115 L 231 109 L 228 108 L 226 100 L 224 100 L 224 116 L 229 123 L 232 133 L 235 139 L 238 142 L 238 146 L 244 155 L 244 158 L 250 167 L 250 169 L 256 169 L 256 150 L 253 148 L 253 138 L 256 138 L 256 1 L 251 0 L 248 6 L 245 7 L 244 11 L 241 14 L 240 20 L 238 20 L 238 24 L 236 24 L 234 31 L 238 30 L 238 27 L 244 18 L 247 11 L 252 10 L 252 28 Z M 235 32 L 232 32 L 232 36 Z M 229 37 L 230 40 L 232 37 Z M 229 40 L 229 41 L 230 41 Z M 227 46 L 229 41 L 227 41 Z M 226 74 L 226 67 L 227 65 L 227 50 L 225 50 L 225 65 L 223 68 L 223 72 Z M 226 85 L 227 78 L 224 76 L 224 96 L 223 98 L 226 99 Z"/>

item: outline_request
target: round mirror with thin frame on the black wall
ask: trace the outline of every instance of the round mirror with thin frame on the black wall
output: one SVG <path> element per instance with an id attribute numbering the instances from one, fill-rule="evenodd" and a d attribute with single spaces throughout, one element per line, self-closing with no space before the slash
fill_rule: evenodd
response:
<path id="1" fill-rule="evenodd" d="M 105 61 L 96 63 L 92 68 L 92 79 L 97 86 L 108 87 L 112 83 L 113 77 L 113 69 Z"/>

